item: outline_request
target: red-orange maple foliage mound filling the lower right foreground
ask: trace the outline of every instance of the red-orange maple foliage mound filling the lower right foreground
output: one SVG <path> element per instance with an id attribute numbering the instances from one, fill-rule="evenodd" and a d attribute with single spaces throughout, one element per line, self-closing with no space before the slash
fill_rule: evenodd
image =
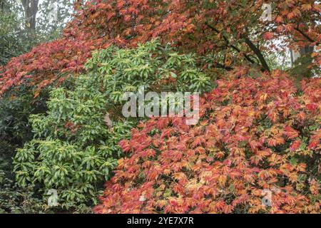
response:
<path id="1" fill-rule="evenodd" d="M 141 123 L 94 212 L 320 213 L 320 85 L 239 68 L 203 96 L 198 125 Z"/>

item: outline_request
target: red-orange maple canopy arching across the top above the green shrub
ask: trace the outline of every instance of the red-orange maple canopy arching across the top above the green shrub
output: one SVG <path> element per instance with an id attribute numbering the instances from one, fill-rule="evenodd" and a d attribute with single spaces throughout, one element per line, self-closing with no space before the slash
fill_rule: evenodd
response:
<path id="1" fill-rule="evenodd" d="M 272 21 L 260 21 L 265 2 L 273 6 Z M 321 39 L 317 23 L 321 6 L 312 0 L 92 0 L 77 9 L 61 38 L 0 67 L 0 94 L 21 83 L 36 86 L 37 94 L 83 71 L 93 50 L 112 43 L 136 46 L 161 37 L 183 51 L 223 56 L 213 60 L 215 68 L 230 70 L 250 63 L 270 71 L 261 53 L 275 47 L 267 49 L 266 41 L 285 36 L 285 45 L 295 47 L 314 46 Z M 312 65 L 320 66 L 320 54 L 312 56 Z"/>

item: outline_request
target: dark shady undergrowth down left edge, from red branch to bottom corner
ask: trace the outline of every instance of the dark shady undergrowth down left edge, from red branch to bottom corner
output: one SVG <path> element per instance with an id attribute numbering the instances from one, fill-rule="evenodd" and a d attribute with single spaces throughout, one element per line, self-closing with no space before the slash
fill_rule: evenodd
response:
<path id="1" fill-rule="evenodd" d="M 29 115 L 45 112 L 45 94 L 34 98 L 28 86 L 19 86 L 0 98 L 0 213 L 43 212 L 32 188 L 16 185 L 12 160 L 16 149 L 33 138 Z"/>

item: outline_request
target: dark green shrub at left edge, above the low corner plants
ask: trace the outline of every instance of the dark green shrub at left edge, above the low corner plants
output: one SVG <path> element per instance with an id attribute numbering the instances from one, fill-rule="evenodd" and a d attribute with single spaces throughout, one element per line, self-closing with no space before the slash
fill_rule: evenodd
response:
<path id="1" fill-rule="evenodd" d="M 11 162 L 16 148 L 31 140 L 29 115 L 44 113 L 46 95 L 34 98 L 29 88 L 19 86 L 0 98 L 0 170 L 11 176 Z"/>

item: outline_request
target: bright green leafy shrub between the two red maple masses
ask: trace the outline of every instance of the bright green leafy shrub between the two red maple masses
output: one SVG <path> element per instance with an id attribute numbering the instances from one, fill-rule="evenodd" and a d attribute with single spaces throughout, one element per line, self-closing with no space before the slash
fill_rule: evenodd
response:
<path id="1" fill-rule="evenodd" d="M 136 119 L 121 115 L 125 92 L 211 88 L 211 78 L 196 67 L 191 55 L 151 41 L 135 49 L 114 46 L 93 54 L 87 73 L 71 89 L 51 91 L 46 115 L 32 115 L 35 138 L 14 158 L 21 187 L 40 185 L 39 192 L 58 193 L 58 207 L 87 210 L 97 203 L 103 183 L 123 155 L 118 142 L 130 136 Z M 214 78 L 213 78 L 214 80 Z"/>

